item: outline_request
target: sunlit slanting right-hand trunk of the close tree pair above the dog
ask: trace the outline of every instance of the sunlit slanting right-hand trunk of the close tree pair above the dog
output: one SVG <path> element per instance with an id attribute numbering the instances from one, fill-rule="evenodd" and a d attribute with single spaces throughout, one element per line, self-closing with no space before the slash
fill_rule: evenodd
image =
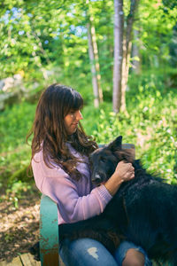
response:
<path id="1" fill-rule="evenodd" d="M 130 54 L 132 48 L 132 31 L 139 0 L 131 0 L 130 12 L 127 16 L 127 28 L 123 42 L 123 63 L 122 63 L 122 81 L 121 81 L 121 111 L 126 112 L 126 88 L 130 64 Z"/>

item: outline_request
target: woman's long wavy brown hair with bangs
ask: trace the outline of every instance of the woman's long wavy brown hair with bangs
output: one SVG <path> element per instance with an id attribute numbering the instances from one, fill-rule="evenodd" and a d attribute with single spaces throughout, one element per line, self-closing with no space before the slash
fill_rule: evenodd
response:
<path id="1" fill-rule="evenodd" d="M 35 121 L 28 137 L 32 134 L 32 157 L 42 150 L 45 164 L 52 168 L 52 162 L 64 168 L 74 179 L 79 180 L 81 174 L 76 169 L 78 161 L 70 152 L 69 142 L 73 148 L 83 155 L 96 150 L 96 142 L 84 132 L 81 122 L 79 127 L 68 136 L 64 118 L 70 111 L 80 110 L 83 106 L 81 94 L 70 87 L 58 83 L 50 85 L 43 91 L 35 111 Z"/>

